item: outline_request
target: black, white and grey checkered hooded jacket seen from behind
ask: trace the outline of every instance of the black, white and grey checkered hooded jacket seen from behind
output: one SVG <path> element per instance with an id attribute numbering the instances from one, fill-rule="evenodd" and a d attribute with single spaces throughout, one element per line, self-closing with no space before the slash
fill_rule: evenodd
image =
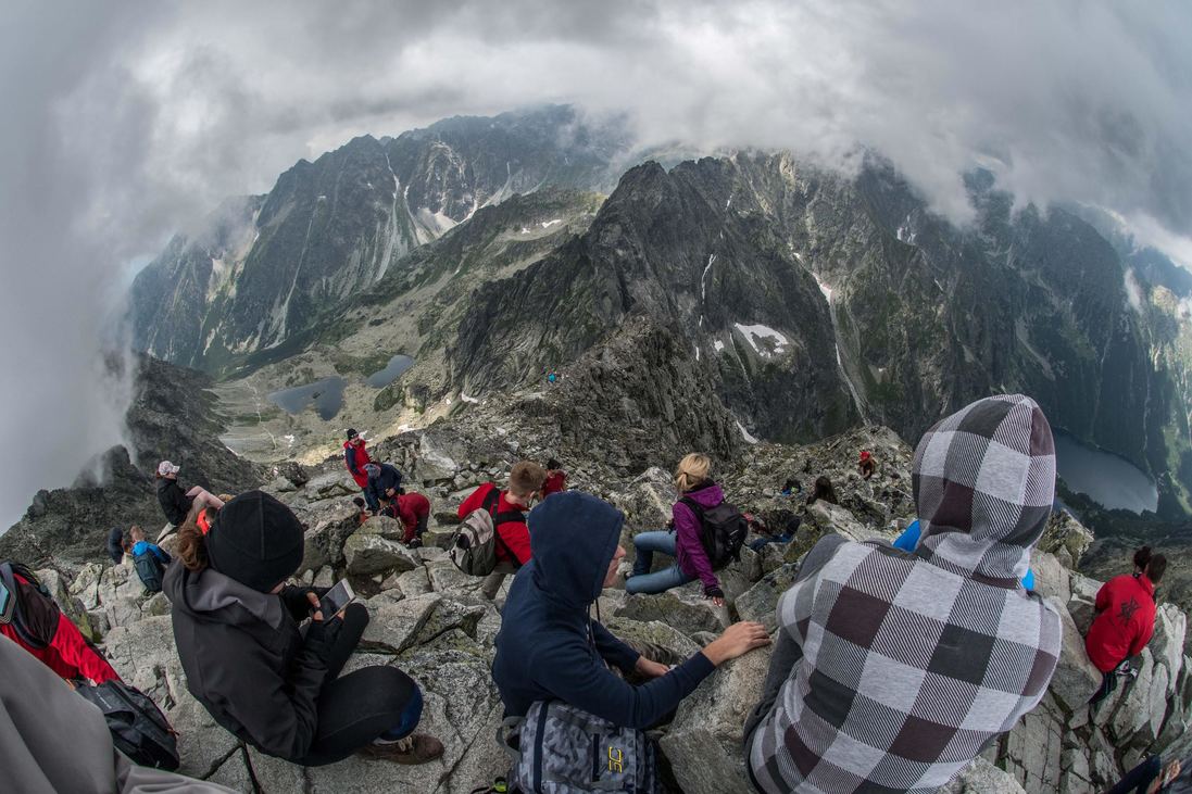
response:
<path id="1" fill-rule="evenodd" d="M 747 748 L 787 792 L 935 792 L 1043 697 L 1060 616 L 1023 590 L 1055 491 L 1035 401 L 977 401 L 914 453 L 913 554 L 840 542 L 778 602 L 802 647 Z"/>

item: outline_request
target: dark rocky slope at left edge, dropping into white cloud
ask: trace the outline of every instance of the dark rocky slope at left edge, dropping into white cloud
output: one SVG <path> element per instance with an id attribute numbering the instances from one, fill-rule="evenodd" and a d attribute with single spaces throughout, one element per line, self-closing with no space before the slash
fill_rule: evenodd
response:
<path id="1" fill-rule="evenodd" d="M 75 566 L 103 556 L 114 526 L 161 527 L 154 480 L 161 460 L 182 467 L 179 480 L 187 488 L 235 492 L 261 482 L 256 464 L 219 442 L 225 424 L 207 376 L 149 356 L 132 366 L 136 392 L 125 417 L 132 448 L 112 447 L 72 488 L 38 491 L 24 517 L 0 535 L 0 558 Z"/>

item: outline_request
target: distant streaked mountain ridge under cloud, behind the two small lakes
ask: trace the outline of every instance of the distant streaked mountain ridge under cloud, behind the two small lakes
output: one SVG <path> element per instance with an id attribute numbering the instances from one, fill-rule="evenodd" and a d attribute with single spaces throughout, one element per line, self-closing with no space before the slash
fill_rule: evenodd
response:
<path id="1" fill-rule="evenodd" d="M 355 138 L 175 237 L 134 284 L 135 343 L 223 371 L 310 328 L 483 206 L 547 185 L 607 187 L 623 151 L 615 124 L 567 107 Z"/>

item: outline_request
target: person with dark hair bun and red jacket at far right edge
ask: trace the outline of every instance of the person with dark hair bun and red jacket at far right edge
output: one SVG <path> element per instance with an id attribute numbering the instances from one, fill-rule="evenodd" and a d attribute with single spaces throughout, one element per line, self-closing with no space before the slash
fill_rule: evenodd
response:
<path id="1" fill-rule="evenodd" d="M 1117 689 L 1119 675 L 1130 675 L 1130 659 L 1142 653 L 1155 633 L 1155 585 L 1163 578 L 1167 558 L 1150 546 L 1134 553 L 1134 573 L 1101 585 L 1093 604 L 1095 616 L 1085 650 L 1101 671 L 1101 687 L 1088 702 L 1099 703 Z"/>

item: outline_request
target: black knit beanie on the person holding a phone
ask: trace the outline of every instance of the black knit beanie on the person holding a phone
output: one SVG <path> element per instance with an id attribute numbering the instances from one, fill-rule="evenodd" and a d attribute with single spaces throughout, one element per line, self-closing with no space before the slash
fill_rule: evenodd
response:
<path id="1" fill-rule="evenodd" d="M 262 491 L 228 502 L 207 533 L 211 567 L 268 593 L 293 575 L 304 551 L 302 523 L 290 508 Z"/>

